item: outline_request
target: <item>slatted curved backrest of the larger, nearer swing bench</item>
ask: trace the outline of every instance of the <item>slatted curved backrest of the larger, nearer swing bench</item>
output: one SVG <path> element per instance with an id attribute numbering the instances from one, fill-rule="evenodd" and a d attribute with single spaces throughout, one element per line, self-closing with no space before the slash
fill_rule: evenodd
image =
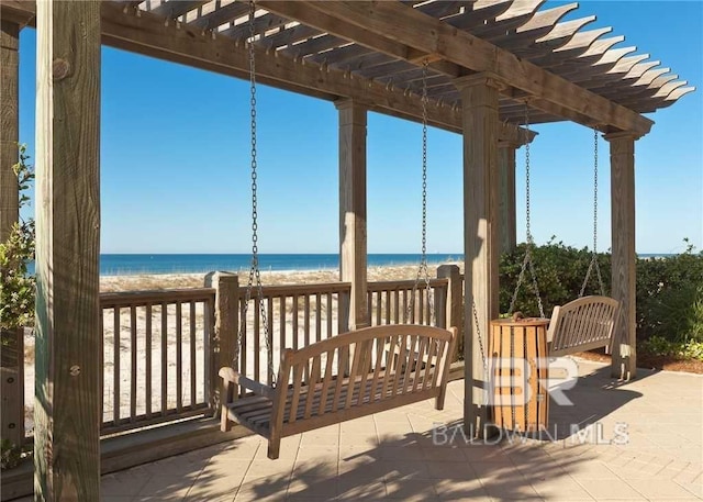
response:
<path id="1" fill-rule="evenodd" d="M 323 426 L 421 401 L 446 386 L 456 328 L 395 324 L 343 333 L 281 357 L 271 425 Z M 300 425 L 308 430 L 311 425 Z"/>

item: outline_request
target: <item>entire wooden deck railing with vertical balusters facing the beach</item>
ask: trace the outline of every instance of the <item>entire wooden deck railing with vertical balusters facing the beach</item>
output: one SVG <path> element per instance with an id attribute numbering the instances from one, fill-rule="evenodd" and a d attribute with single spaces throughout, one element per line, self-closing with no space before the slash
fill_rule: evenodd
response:
<path id="1" fill-rule="evenodd" d="M 461 327 L 462 277 L 456 267 L 444 266 L 438 276 L 429 280 L 429 291 L 425 281 L 416 287 L 414 280 L 369 282 L 369 323 Z M 102 435 L 212 414 L 216 371 L 233 362 L 239 334 L 239 370 L 270 384 L 269 368 L 278 368 L 282 348 L 304 347 L 348 330 L 348 282 L 265 286 L 266 326 L 259 300 L 252 298 L 241 330 L 245 291 L 230 276 L 209 288 L 100 294 Z"/>

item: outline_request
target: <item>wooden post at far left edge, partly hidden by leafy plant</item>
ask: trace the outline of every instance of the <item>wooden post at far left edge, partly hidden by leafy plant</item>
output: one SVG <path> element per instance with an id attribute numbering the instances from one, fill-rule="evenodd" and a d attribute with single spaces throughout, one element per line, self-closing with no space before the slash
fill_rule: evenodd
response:
<path id="1" fill-rule="evenodd" d="M 0 21 L 0 243 L 10 236 L 20 215 L 18 177 L 20 25 Z M 2 333 L 7 343 L 0 361 L 2 391 L 0 437 L 13 445 L 24 443 L 24 330 Z"/>

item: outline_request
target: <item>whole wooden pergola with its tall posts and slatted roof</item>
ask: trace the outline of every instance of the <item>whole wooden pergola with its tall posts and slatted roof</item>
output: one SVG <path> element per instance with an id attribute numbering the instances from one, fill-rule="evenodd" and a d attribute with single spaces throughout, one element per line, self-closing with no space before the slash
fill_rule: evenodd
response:
<path id="1" fill-rule="evenodd" d="M 618 48 L 611 29 L 577 4 L 543 0 L 257 1 L 259 81 L 334 102 L 339 112 L 341 279 L 352 282 L 352 326 L 366 312 L 366 127 L 369 110 L 422 118 L 464 137 L 466 319 L 488 333 L 499 314 L 501 246 L 514 245 L 515 148 L 521 129 L 569 120 L 611 147 L 612 295 L 621 302 L 613 372 L 633 378 L 635 141 L 693 88 L 648 55 Z M 98 500 L 100 400 L 101 44 L 239 78 L 248 76 L 248 2 L 2 1 L 0 237 L 18 216 L 19 32 L 37 30 L 36 491 L 42 500 Z M 501 188 L 502 187 L 502 188 Z M 501 244 L 501 235 L 503 235 Z M 480 431 L 482 375 L 473 323 L 465 326 L 465 426 Z M 4 431 L 3 431 L 4 432 Z"/>

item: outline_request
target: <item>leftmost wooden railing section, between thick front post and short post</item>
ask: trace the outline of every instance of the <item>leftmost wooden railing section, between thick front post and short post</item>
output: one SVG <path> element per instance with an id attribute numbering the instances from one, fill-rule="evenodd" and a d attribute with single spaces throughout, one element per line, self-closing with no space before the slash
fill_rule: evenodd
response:
<path id="1" fill-rule="evenodd" d="M 209 409 L 215 291 L 101 293 L 102 434 Z"/>

